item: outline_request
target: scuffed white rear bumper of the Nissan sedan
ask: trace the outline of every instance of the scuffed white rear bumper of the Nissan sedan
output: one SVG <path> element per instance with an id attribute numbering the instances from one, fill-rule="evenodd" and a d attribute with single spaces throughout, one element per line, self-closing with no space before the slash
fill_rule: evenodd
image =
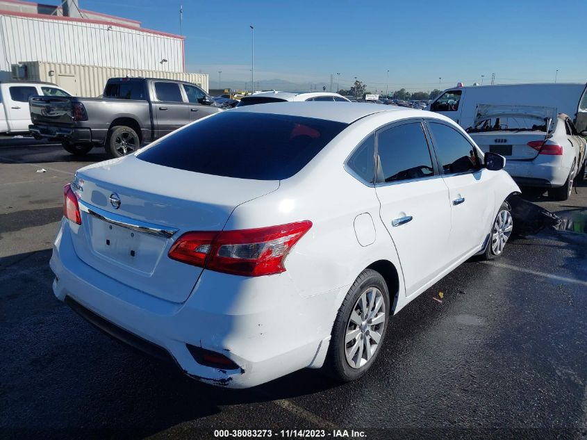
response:
<path id="1" fill-rule="evenodd" d="M 111 336 L 150 354 L 169 353 L 190 377 L 232 388 L 322 366 L 340 289 L 302 298 L 283 274 L 247 278 L 204 270 L 188 300 L 169 302 L 85 264 L 70 234 L 64 218 L 50 261 L 53 292 Z M 188 344 L 220 353 L 238 369 L 198 364 Z"/>

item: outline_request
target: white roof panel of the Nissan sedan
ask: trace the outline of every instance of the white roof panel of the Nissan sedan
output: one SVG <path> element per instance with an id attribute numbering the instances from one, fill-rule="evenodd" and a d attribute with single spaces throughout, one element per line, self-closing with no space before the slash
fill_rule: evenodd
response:
<path id="1" fill-rule="evenodd" d="M 366 103 L 340 103 L 328 101 L 312 102 L 279 102 L 259 104 L 257 106 L 242 106 L 229 110 L 231 112 L 270 113 L 273 115 L 291 115 L 299 117 L 312 117 L 314 119 L 329 120 L 351 124 L 361 117 L 381 112 L 423 112 L 414 108 L 395 106 L 374 106 Z M 429 113 L 429 112 L 425 112 Z M 414 116 L 417 116 L 416 114 Z"/>

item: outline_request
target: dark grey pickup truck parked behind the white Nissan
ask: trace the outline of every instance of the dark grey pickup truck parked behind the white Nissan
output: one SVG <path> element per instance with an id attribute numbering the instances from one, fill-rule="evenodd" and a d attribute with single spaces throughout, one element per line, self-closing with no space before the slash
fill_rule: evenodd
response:
<path id="1" fill-rule="evenodd" d="M 110 78 L 103 98 L 31 97 L 30 104 L 35 138 L 60 140 L 76 155 L 104 147 L 110 157 L 222 111 L 195 84 L 155 78 Z"/>

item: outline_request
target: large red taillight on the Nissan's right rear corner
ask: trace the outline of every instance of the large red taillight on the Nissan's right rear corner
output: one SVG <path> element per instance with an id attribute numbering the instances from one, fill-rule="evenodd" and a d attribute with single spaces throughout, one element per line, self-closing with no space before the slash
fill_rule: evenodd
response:
<path id="1" fill-rule="evenodd" d="M 283 261 L 312 227 L 289 223 L 239 231 L 187 232 L 172 246 L 170 258 L 217 272 L 259 277 L 283 272 Z"/>

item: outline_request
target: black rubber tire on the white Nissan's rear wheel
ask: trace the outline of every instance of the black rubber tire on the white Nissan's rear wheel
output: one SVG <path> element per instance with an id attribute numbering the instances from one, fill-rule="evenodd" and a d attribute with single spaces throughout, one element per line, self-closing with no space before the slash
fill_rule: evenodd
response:
<path id="1" fill-rule="evenodd" d="M 373 325 L 372 327 L 369 326 L 369 329 L 367 329 L 365 332 L 363 332 L 363 330 L 358 326 L 356 329 L 354 329 L 354 331 L 358 330 L 358 335 L 356 338 L 349 341 L 349 344 L 354 346 L 353 341 L 356 343 L 361 343 L 361 347 L 356 352 L 358 357 L 358 351 L 361 350 L 361 362 L 365 360 L 363 359 L 363 350 L 365 349 L 363 341 L 368 341 L 370 343 L 370 347 L 373 345 L 376 346 L 374 352 L 372 352 L 372 355 L 370 355 L 370 358 L 365 361 L 365 364 L 358 366 L 357 368 L 351 366 L 349 361 L 347 361 L 347 343 L 345 343 L 345 336 L 347 335 L 347 329 L 349 328 L 349 325 L 354 325 L 350 322 L 351 314 L 353 311 L 358 310 L 356 309 L 356 306 L 358 306 L 359 299 L 363 293 L 367 293 L 368 298 L 370 291 L 372 293 L 371 298 L 374 298 L 376 293 L 373 288 L 378 289 L 379 293 L 381 293 L 381 297 L 383 298 L 383 307 L 385 307 L 385 309 L 383 312 L 380 311 L 377 313 L 377 316 L 380 316 L 381 313 L 383 313 L 383 323 L 381 324 L 381 327 L 379 327 L 379 325 Z M 361 275 L 357 277 L 354 284 L 349 289 L 349 292 L 347 293 L 347 296 L 342 302 L 342 305 L 338 310 L 338 314 L 336 315 L 328 354 L 326 355 L 326 361 L 324 362 L 324 373 L 328 374 L 336 380 L 340 380 L 341 382 L 350 382 L 352 380 L 356 380 L 367 373 L 367 370 L 369 370 L 375 359 L 377 359 L 377 355 L 379 355 L 379 352 L 381 352 L 381 346 L 383 345 L 383 341 L 385 341 L 386 331 L 389 323 L 390 309 L 391 304 L 389 291 L 385 279 L 383 279 L 381 274 L 375 270 L 363 270 Z M 364 320 L 363 324 L 368 323 L 368 321 L 369 320 Z M 380 338 L 379 343 L 373 344 L 375 341 L 373 338 L 375 334 L 373 334 L 373 332 L 376 332 L 377 336 Z M 367 357 L 366 349 L 364 350 L 364 353 L 365 357 Z"/>

